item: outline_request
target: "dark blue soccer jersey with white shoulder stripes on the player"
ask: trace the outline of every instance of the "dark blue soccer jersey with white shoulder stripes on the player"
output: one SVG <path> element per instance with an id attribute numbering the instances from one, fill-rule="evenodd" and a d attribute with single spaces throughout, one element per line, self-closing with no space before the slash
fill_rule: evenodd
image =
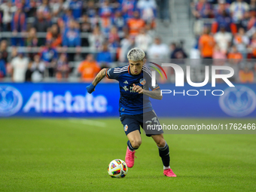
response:
<path id="1" fill-rule="evenodd" d="M 106 70 L 106 76 L 110 79 L 119 81 L 120 99 L 119 112 L 121 114 L 143 114 L 143 112 L 152 111 L 152 105 L 149 96 L 139 94 L 133 91 L 133 84 L 139 85 L 144 90 L 160 89 L 158 84 L 151 86 L 151 70 L 146 66 L 142 67 L 139 75 L 132 75 L 130 66 L 117 67 Z"/>

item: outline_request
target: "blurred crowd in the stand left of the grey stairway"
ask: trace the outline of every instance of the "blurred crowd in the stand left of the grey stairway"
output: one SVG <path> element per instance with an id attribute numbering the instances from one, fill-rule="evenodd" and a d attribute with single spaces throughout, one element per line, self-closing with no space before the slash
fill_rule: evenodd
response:
<path id="1" fill-rule="evenodd" d="M 160 52 L 154 29 L 157 6 L 163 8 L 160 18 L 169 20 L 166 2 L 2 0 L 0 79 L 23 82 L 56 77 L 62 81 L 77 70 L 83 81 L 91 81 L 99 69 L 126 62 L 132 47 Z M 71 65 L 74 62 L 79 66 Z"/>

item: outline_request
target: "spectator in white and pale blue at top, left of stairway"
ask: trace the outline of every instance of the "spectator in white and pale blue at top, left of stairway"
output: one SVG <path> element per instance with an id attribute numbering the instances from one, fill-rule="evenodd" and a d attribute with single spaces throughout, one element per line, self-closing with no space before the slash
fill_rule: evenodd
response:
<path id="1" fill-rule="evenodd" d="M 155 0 L 139 0 L 137 8 L 140 10 L 142 20 L 151 23 L 156 17 L 157 4 Z"/>

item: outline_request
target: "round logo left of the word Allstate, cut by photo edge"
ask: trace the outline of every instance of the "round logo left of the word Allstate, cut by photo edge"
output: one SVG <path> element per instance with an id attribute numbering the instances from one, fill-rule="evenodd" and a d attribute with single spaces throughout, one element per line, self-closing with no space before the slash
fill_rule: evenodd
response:
<path id="1" fill-rule="evenodd" d="M 0 116 L 16 114 L 23 105 L 20 91 L 11 86 L 0 86 Z"/>

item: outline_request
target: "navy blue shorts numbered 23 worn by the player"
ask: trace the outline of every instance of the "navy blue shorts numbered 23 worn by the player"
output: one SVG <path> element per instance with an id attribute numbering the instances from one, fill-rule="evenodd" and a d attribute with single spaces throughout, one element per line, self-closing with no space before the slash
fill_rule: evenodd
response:
<path id="1" fill-rule="evenodd" d="M 163 133 L 163 130 L 154 128 L 154 125 L 160 125 L 154 110 L 144 114 L 122 114 L 120 115 L 120 121 L 123 124 L 123 130 L 126 136 L 135 130 L 139 130 L 139 133 L 141 133 L 140 127 L 145 131 L 146 136 L 154 136 Z"/>

